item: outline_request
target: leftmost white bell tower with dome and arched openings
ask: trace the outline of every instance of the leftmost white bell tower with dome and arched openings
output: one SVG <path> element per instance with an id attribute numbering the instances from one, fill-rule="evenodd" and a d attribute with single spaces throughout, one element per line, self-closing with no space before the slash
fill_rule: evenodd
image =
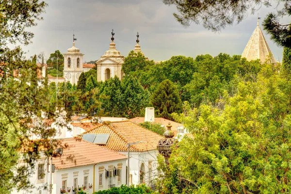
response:
<path id="1" fill-rule="evenodd" d="M 67 50 L 64 55 L 64 78 L 65 81 L 70 81 L 70 83 L 76 84 L 79 80 L 83 69 L 83 56 L 80 53 L 80 49 L 75 47 L 75 34 L 73 34 L 73 47 Z"/>

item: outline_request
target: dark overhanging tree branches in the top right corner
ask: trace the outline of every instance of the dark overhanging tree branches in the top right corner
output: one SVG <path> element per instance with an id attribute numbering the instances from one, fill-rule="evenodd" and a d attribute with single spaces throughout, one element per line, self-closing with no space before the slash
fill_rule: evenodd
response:
<path id="1" fill-rule="evenodd" d="M 269 13 L 264 19 L 264 29 L 271 34 L 271 39 L 279 46 L 291 47 L 290 25 L 279 22 L 282 16 L 291 15 L 290 0 L 163 0 L 167 5 L 176 5 L 179 14 L 174 13 L 175 18 L 184 26 L 191 22 L 202 23 L 212 31 L 219 31 L 234 22 L 240 23 L 251 10 L 252 14 L 261 8 L 276 6 L 277 13 Z M 279 6 L 281 5 L 281 6 Z"/>

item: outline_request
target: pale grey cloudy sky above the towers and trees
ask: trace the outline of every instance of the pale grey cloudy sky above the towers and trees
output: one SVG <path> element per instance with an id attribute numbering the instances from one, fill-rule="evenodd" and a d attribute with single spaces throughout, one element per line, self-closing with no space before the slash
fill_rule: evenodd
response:
<path id="1" fill-rule="evenodd" d="M 27 57 L 45 52 L 45 58 L 59 49 L 65 53 L 72 46 L 75 32 L 76 47 L 85 54 L 86 62 L 97 60 L 111 42 L 114 29 L 116 49 L 127 56 L 136 44 L 136 32 L 146 57 L 155 61 L 167 60 L 175 55 L 195 57 L 200 54 L 215 56 L 221 52 L 242 54 L 252 32 L 257 26 L 257 14 L 248 14 L 239 24 L 226 27 L 221 32 L 211 32 L 202 25 L 185 28 L 174 18 L 175 6 L 162 0 L 47 0 L 43 20 L 30 30 L 33 43 L 23 49 Z M 258 13 L 263 18 L 275 8 L 262 7 Z M 288 20 L 287 20 L 288 21 Z M 263 32 L 275 56 L 282 59 L 282 48 L 277 47 Z"/>

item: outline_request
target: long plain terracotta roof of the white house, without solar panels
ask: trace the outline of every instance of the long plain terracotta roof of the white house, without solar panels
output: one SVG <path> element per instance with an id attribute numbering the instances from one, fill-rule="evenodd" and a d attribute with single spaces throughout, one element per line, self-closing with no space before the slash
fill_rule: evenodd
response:
<path id="1" fill-rule="evenodd" d="M 101 162 L 126 160 L 127 156 L 80 139 L 60 140 L 63 146 L 62 156 L 53 157 L 52 163 L 57 169 L 74 168 Z"/>

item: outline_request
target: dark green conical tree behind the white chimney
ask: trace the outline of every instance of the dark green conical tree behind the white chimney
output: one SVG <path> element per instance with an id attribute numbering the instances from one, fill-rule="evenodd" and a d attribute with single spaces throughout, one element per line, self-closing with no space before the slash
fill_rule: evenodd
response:
<path id="1" fill-rule="evenodd" d="M 162 81 L 150 97 L 150 106 L 155 108 L 157 117 L 172 119 L 171 113 L 180 113 L 182 103 L 175 84 L 170 80 Z"/>

